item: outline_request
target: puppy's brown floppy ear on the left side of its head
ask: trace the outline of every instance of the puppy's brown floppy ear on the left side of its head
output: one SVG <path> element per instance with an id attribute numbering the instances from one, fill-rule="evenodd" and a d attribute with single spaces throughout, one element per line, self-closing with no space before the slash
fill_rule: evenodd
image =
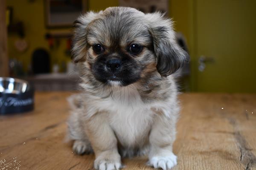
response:
<path id="1" fill-rule="evenodd" d="M 99 13 L 102 13 L 102 11 L 100 11 Z M 85 49 L 87 45 L 87 26 L 92 20 L 97 18 L 99 13 L 87 12 L 86 14 L 78 17 L 78 19 L 73 23 L 73 27 L 75 29 L 72 39 L 71 59 L 73 59 L 75 63 L 85 61 Z"/>

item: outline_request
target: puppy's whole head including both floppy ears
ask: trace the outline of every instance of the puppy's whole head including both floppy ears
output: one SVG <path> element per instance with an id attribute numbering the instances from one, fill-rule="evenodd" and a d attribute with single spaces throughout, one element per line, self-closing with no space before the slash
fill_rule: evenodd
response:
<path id="1" fill-rule="evenodd" d="M 171 21 L 159 13 L 107 8 L 79 17 L 75 27 L 74 61 L 104 84 L 125 86 L 157 71 L 168 76 L 185 61 Z"/>

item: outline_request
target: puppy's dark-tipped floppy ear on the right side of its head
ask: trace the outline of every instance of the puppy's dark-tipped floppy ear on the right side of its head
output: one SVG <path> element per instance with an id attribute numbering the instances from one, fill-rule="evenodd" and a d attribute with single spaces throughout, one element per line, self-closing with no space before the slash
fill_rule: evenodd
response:
<path id="1" fill-rule="evenodd" d="M 177 45 L 172 20 L 164 18 L 159 12 L 145 14 L 149 22 L 149 31 L 153 38 L 154 52 L 157 56 L 157 71 L 169 76 L 188 61 L 188 54 Z"/>

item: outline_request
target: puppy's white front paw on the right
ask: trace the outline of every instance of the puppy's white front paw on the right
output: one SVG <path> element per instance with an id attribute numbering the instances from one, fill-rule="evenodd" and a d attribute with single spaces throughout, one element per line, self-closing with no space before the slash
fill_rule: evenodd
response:
<path id="1" fill-rule="evenodd" d="M 148 164 L 154 168 L 162 168 L 163 170 L 170 170 L 177 164 L 177 156 L 173 153 L 169 156 L 153 156 Z"/>

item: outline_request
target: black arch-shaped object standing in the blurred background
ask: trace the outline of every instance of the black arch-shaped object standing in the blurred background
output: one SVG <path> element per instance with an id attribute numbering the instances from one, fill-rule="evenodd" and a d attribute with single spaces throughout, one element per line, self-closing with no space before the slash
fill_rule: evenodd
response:
<path id="1" fill-rule="evenodd" d="M 45 49 L 38 48 L 34 51 L 32 55 L 32 71 L 34 74 L 50 72 L 50 57 Z"/>

